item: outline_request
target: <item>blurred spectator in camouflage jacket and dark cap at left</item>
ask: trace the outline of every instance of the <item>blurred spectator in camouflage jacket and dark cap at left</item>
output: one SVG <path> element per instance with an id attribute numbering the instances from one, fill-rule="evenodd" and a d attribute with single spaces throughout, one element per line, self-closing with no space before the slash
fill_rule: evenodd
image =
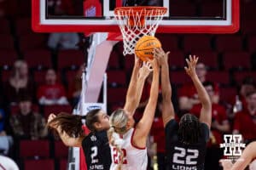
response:
<path id="1" fill-rule="evenodd" d="M 19 102 L 20 111 L 10 117 L 16 139 L 42 139 L 47 135 L 44 117 L 32 111 L 32 100 L 22 96 Z"/>

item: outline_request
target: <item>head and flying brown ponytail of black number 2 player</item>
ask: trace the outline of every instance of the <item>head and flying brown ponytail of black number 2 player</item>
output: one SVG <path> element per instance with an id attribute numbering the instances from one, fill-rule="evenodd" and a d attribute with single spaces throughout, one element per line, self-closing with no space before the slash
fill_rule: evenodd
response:
<path id="1" fill-rule="evenodd" d="M 61 112 L 53 120 L 48 122 L 47 126 L 52 127 L 54 125 L 54 127 L 61 127 L 62 132 L 67 133 L 70 137 L 77 138 L 84 134 L 82 128 L 83 119 L 91 132 L 108 130 L 110 127 L 108 115 L 99 109 L 89 111 L 86 116 L 71 115 Z"/>

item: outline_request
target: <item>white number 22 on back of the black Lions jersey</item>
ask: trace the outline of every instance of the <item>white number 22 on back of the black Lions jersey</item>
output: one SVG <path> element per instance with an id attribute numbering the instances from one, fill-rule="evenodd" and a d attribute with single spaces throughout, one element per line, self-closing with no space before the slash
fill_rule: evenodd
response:
<path id="1" fill-rule="evenodd" d="M 185 150 L 184 148 L 175 147 L 176 153 L 173 155 L 173 163 L 196 165 L 197 161 L 192 161 L 198 157 L 198 150 Z"/>

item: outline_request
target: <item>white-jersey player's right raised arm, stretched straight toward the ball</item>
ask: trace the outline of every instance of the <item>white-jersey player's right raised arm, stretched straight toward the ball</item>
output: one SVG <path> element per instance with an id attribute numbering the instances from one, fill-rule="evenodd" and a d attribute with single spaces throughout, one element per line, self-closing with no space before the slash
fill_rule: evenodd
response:
<path id="1" fill-rule="evenodd" d="M 136 131 L 132 140 L 133 144 L 141 148 L 146 147 L 146 140 L 154 120 L 154 112 L 159 94 L 159 65 L 155 58 L 149 62 L 153 67 L 153 81 L 150 88 L 150 97 L 144 110 L 143 117 L 140 122 L 137 123 Z"/>

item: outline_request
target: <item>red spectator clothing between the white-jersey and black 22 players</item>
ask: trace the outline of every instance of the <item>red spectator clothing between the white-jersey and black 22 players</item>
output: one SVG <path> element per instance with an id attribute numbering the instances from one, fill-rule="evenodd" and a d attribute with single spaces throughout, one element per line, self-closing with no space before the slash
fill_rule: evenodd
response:
<path id="1" fill-rule="evenodd" d="M 151 127 L 151 135 L 154 136 L 154 142 L 157 144 L 157 152 L 166 152 L 166 136 L 163 119 L 155 117 Z"/>

